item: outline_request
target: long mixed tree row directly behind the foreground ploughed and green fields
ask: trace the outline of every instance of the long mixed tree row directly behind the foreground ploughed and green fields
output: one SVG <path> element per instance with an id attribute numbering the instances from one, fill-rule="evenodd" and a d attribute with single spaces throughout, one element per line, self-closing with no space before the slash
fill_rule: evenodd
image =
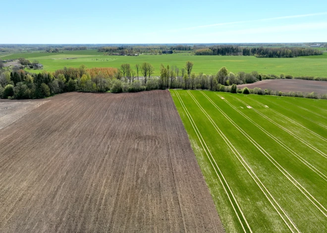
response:
<path id="1" fill-rule="evenodd" d="M 177 66 L 160 66 L 160 76 L 153 76 L 155 67 L 148 63 L 131 66 L 121 64 L 117 68 L 78 68 L 64 67 L 54 72 L 43 71 L 31 74 L 24 70 L 0 70 L 0 97 L 3 98 L 43 98 L 57 93 L 84 92 L 140 92 L 164 89 L 203 89 L 220 92 L 237 92 L 236 85 L 250 84 L 263 79 L 292 79 L 291 75 L 228 72 L 221 67 L 217 73 L 194 73 L 193 62 L 187 61 L 182 68 Z M 312 79 L 312 77 L 295 77 Z M 327 78 L 314 78 L 326 80 Z M 263 94 L 263 93 L 261 93 Z"/>

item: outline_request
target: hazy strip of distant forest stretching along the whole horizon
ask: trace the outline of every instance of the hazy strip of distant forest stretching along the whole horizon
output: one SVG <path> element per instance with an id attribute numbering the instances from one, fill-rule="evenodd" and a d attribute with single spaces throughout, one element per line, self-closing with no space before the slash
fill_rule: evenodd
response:
<path id="1" fill-rule="evenodd" d="M 108 55 L 135 53 L 162 54 L 164 50 L 174 53 L 189 52 L 195 55 L 243 55 L 257 57 L 296 57 L 322 54 L 322 50 L 310 48 L 327 43 L 251 43 L 251 44 L 85 44 L 85 45 L 8 45 L 0 44 L 0 53 L 20 53 L 31 51 L 63 52 L 65 50 L 96 49 Z"/>

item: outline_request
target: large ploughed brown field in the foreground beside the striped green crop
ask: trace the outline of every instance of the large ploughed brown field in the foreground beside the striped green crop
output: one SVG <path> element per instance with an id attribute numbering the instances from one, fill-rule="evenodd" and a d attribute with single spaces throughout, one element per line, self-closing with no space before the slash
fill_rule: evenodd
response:
<path id="1" fill-rule="evenodd" d="M 168 91 L 64 93 L 0 130 L 0 232 L 223 232 Z"/>

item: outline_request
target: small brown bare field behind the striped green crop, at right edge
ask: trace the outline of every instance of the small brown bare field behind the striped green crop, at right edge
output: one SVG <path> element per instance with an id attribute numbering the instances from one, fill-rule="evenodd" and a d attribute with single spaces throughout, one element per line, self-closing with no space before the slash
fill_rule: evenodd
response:
<path id="1" fill-rule="evenodd" d="M 248 87 L 271 89 L 272 91 L 280 92 L 303 92 L 303 93 L 327 93 L 326 81 L 314 81 L 314 80 L 301 80 L 301 79 L 269 79 L 263 80 L 252 84 L 238 85 L 237 88 L 243 89 Z"/>

